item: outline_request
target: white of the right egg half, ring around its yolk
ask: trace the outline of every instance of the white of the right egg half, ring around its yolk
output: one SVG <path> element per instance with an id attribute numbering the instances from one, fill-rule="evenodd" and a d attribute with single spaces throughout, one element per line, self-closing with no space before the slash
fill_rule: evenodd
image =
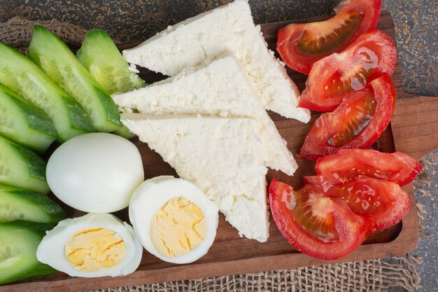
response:
<path id="1" fill-rule="evenodd" d="M 152 243 L 150 238 L 150 223 L 157 211 L 166 202 L 176 197 L 185 197 L 194 203 L 204 213 L 206 220 L 206 237 L 202 242 L 183 256 L 171 258 L 162 255 Z M 169 263 L 192 263 L 204 256 L 209 251 L 216 237 L 218 228 L 218 207 L 209 200 L 206 194 L 193 183 L 173 176 L 157 176 L 141 183 L 132 195 L 129 203 L 129 220 L 134 226 L 137 238 L 144 248 L 157 258 Z"/>

